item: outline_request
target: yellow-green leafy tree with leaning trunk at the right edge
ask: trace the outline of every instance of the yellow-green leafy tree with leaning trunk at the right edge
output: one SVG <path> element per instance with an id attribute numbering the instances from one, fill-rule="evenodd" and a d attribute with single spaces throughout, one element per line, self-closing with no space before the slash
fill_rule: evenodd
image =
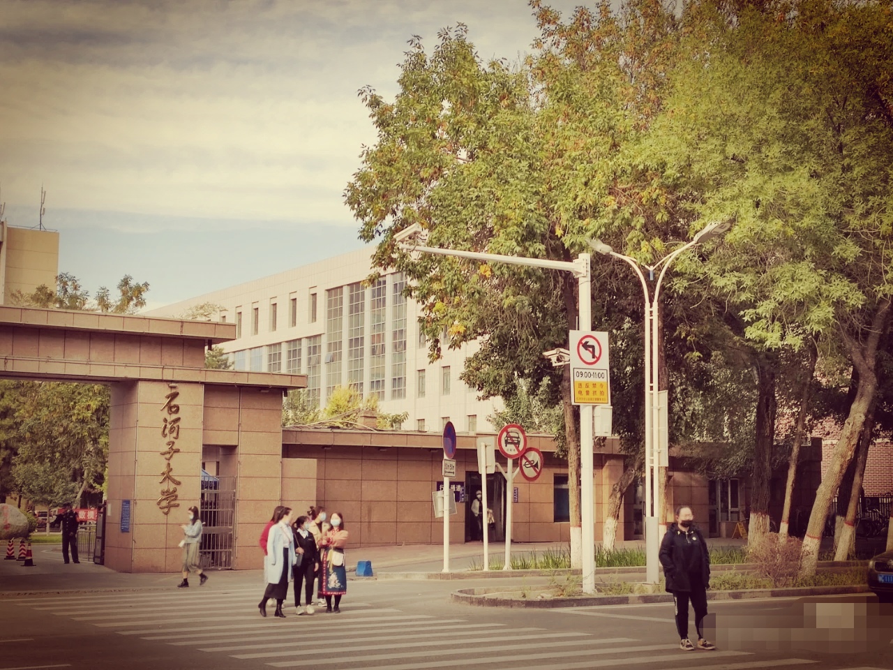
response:
<path id="1" fill-rule="evenodd" d="M 663 179 L 697 194 L 694 220 L 737 218 L 698 281 L 739 312 L 757 347 L 827 336 L 854 368 L 804 542 L 802 571 L 812 574 L 831 498 L 877 398 L 889 331 L 890 8 L 705 1 L 685 18 L 691 55 L 674 72 L 647 154 Z"/>

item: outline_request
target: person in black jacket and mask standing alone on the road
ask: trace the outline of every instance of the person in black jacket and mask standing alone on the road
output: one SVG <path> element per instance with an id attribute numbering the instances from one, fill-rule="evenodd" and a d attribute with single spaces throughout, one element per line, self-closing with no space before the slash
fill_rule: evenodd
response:
<path id="1" fill-rule="evenodd" d="M 680 649 L 692 651 L 689 640 L 689 600 L 695 608 L 697 649 L 716 649 L 704 639 L 701 624 L 707 616 L 707 587 L 710 586 L 710 554 L 704 536 L 694 524 L 695 515 L 688 505 L 676 507 L 676 523 L 667 529 L 661 542 L 660 559 L 666 577 L 666 590 L 672 593 L 676 607 L 676 630 Z"/>

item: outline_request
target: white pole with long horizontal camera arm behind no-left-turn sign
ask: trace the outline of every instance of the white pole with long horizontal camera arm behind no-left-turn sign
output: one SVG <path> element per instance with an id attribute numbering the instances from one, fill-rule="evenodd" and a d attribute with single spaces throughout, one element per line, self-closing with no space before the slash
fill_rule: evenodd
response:
<path id="1" fill-rule="evenodd" d="M 413 223 L 405 230 L 395 235 L 397 244 L 412 254 L 449 255 L 458 258 L 468 258 L 475 261 L 493 263 L 505 263 L 513 265 L 526 265 L 548 270 L 562 270 L 572 272 L 577 278 L 578 288 L 578 325 L 581 331 L 592 330 L 592 285 L 589 263 L 591 256 L 580 254 L 575 261 L 550 261 L 545 258 L 526 258 L 513 255 L 484 254 L 476 251 L 462 251 L 459 249 L 444 249 L 440 247 L 425 247 L 413 244 L 413 241 L 421 239 L 425 243 L 425 231 L 418 223 Z M 592 406 L 580 407 L 580 546 L 581 564 L 583 573 L 583 592 L 596 592 L 596 538 L 595 538 L 595 494 L 593 490 L 593 408 Z M 512 495 L 509 490 L 508 495 Z"/>

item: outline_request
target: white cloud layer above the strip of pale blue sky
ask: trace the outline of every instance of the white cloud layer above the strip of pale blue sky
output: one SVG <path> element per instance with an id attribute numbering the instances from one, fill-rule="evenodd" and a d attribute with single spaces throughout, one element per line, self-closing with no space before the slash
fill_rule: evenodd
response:
<path id="1" fill-rule="evenodd" d="M 536 32 L 522 0 L 7 2 L 3 197 L 353 227 L 341 193 L 374 141 L 356 91 L 393 95 L 406 40 L 456 21 L 485 59 Z"/>

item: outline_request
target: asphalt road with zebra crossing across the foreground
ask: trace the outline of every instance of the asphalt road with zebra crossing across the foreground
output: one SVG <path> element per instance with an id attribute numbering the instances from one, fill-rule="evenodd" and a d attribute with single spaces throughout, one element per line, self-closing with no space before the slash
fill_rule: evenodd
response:
<path id="1" fill-rule="evenodd" d="M 686 652 L 672 605 L 469 607 L 448 601 L 456 588 L 350 582 L 341 614 L 296 616 L 289 600 L 286 619 L 273 617 L 272 605 L 259 616 L 263 585 L 222 579 L 188 590 L 8 598 L 0 600 L 0 670 L 893 669 L 893 608 L 880 610 L 873 596 L 711 603 L 708 635 L 719 649 Z M 866 631 L 883 639 L 865 641 Z"/>

